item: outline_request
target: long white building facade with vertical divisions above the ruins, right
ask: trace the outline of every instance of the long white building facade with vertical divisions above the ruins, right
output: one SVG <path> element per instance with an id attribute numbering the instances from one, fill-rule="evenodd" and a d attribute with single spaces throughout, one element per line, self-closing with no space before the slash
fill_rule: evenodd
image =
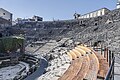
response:
<path id="1" fill-rule="evenodd" d="M 108 10 L 107 8 L 102 8 L 87 14 L 84 14 L 82 16 L 79 17 L 79 19 L 81 18 L 93 18 L 93 17 L 98 17 L 98 16 L 102 16 L 107 14 L 108 12 L 110 12 L 110 10 Z"/>

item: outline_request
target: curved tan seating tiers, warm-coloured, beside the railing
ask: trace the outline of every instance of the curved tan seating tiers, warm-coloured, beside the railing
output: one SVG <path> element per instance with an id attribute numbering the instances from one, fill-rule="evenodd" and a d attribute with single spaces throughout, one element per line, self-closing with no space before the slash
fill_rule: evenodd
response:
<path id="1" fill-rule="evenodd" d="M 108 71 L 108 62 L 102 55 L 93 49 L 78 45 L 67 52 L 71 64 L 58 80 L 97 80 L 105 78 Z M 104 61 L 104 62 L 102 62 Z"/>

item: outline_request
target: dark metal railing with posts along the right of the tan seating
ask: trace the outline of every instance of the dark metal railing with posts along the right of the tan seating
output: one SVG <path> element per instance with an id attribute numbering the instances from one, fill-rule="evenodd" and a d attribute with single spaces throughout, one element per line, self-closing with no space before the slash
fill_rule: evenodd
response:
<path id="1" fill-rule="evenodd" d="M 107 47 L 104 48 L 93 47 L 93 49 L 99 52 L 101 55 L 103 55 L 104 58 L 106 58 L 107 62 L 109 63 L 109 70 L 104 80 L 114 80 L 114 63 L 115 63 L 114 53 Z"/>

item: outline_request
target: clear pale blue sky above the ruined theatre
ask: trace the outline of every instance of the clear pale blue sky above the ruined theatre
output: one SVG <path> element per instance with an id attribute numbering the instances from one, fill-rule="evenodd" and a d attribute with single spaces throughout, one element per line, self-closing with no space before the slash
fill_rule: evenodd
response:
<path id="1" fill-rule="evenodd" d="M 116 8 L 117 0 L 0 0 L 0 7 L 13 18 L 42 16 L 44 20 L 72 19 L 75 12 L 85 14 L 103 7 Z"/>

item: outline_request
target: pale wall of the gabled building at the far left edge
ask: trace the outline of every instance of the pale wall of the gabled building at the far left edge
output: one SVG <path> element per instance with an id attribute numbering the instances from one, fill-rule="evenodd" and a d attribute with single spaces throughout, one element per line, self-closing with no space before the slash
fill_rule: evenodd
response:
<path id="1" fill-rule="evenodd" d="M 0 8 L 0 17 L 12 22 L 12 13 Z"/>

